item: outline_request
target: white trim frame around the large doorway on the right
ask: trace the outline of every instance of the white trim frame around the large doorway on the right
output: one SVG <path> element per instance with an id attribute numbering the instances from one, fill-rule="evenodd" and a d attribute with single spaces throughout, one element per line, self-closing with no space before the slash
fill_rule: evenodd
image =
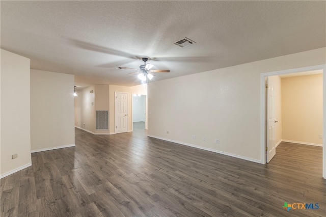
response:
<path id="1" fill-rule="evenodd" d="M 322 177 L 326 179 L 326 65 L 309 66 L 296 69 L 287 69 L 281 71 L 266 72 L 260 74 L 260 150 L 261 164 L 266 164 L 266 88 L 265 77 L 291 74 L 296 72 L 322 70 Z"/>

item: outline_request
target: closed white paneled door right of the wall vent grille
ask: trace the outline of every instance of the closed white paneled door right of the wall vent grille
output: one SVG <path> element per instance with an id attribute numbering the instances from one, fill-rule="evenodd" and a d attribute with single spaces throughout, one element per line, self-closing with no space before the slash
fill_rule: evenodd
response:
<path id="1" fill-rule="evenodd" d="M 116 133 L 128 131 L 128 94 L 115 92 Z"/>

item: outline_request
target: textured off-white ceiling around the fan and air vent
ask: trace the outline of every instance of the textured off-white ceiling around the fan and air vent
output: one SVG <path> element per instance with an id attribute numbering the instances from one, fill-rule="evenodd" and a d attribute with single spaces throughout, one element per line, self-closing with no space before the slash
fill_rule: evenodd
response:
<path id="1" fill-rule="evenodd" d="M 325 11 L 325 1 L 1 1 L 1 48 L 79 85 L 133 86 L 117 67 L 141 57 L 171 70 L 160 80 L 325 47 Z M 197 43 L 173 44 L 183 37 Z"/>

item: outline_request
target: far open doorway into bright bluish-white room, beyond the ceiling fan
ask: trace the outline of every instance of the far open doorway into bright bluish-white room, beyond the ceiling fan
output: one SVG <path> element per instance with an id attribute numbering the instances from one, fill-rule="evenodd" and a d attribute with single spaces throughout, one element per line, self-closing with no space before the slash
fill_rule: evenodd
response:
<path id="1" fill-rule="evenodd" d="M 146 95 L 132 94 L 132 129 L 146 129 Z"/>

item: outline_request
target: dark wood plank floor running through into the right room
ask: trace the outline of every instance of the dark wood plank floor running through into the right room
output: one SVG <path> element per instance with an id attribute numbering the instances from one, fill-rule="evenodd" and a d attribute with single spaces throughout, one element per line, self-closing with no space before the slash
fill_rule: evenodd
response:
<path id="1" fill-rule="evenodd" d="M 33 153 L 32 167 L 1 179 L 1 216 L 325 216 L 321 147 L 282 143 L 260 165 L 137 128 L 75 131 L 76 147 Z"/>

